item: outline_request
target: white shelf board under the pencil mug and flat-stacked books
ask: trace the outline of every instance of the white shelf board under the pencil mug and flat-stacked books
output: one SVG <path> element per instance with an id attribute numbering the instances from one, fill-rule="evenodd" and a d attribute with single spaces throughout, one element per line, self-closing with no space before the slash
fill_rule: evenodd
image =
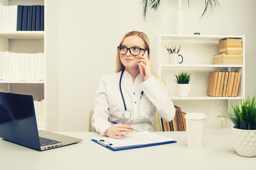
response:
<path id="1" fill-rule="evenodd" d="M 169 68 L 242 68 L 243 65 L 173 65 L 173 64 L 162 64 L 161 67 L 169 67 Z"/>

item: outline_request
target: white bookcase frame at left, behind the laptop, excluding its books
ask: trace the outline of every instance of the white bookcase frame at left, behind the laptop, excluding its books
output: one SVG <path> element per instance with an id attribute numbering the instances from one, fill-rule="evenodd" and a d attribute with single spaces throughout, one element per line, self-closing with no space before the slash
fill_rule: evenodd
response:
<path id="1" fill-rule="evenodd" d="M 44 5 L 46 0 L 0 0 L 2 5 Z M 44 53 L 43 56 L 43 80 L 0 80 L 0 91 L 32 95 L 34 100 L 44 99 L 44 110 L 47 113 L 47 86 L 46 65 L 46 8 L 44 8 L 44 31 L 0 31 L 0 51 L 12 51 L 14 53 Z M 51 44 L 50 44 L 51 45 Z M 1 68 L 2 66 L 0 66 Z M 51 97 L 49 95 L 49 97 Z M 45 115 L 45 127 L 47 119 L 55 121 L 55 115 Z M 52 128 L 53 129 L 53 128 Z"/>

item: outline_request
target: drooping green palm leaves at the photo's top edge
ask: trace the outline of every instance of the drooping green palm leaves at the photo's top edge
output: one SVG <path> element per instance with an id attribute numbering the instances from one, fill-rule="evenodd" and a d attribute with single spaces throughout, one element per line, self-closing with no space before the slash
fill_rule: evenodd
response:
<path id="1" fill-rule="evenodd" d="M 143 5 L 143 18 L 144 18 L 144 20 L 146 20 L 146 15 L 147 15 L 148 9 L 150 9 L 150 10 L 154 9 L 156 11 L 160 5 L 160 0 L 142 0 L 141 3 Z M 190 8 L 190 0 L 188 0 L 188 4 L 189 4 L 189 8 Z M 218 0 L 205 0 L 205 9 L 200 18 L 202 19 L 204 17 L 204 15 L 207 12 L 207 10 L 209 9 L 209 7 L 211 8 L 212 11 L 214 11 L 214 8 L 217 5 L 219 6 Z"/>

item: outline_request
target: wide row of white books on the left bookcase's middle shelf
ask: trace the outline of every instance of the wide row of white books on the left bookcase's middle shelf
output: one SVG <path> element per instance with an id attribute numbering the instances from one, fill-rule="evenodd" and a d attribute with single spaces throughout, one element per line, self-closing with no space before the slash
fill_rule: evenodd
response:
<path id="1" fill-rule="evenodd" d="M 0 80 L 43 80 L 43 53 L 0 51 Z"/>

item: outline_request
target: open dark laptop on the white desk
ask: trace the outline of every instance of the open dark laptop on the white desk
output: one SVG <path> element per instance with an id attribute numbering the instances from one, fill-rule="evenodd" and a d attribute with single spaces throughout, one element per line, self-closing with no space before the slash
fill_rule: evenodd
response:
<path id="1" fill-rule="evenodd" d="M 82 139 L 38 130 L 33 96 L 0 92 L 0 137 L 39 151 Z"/>

